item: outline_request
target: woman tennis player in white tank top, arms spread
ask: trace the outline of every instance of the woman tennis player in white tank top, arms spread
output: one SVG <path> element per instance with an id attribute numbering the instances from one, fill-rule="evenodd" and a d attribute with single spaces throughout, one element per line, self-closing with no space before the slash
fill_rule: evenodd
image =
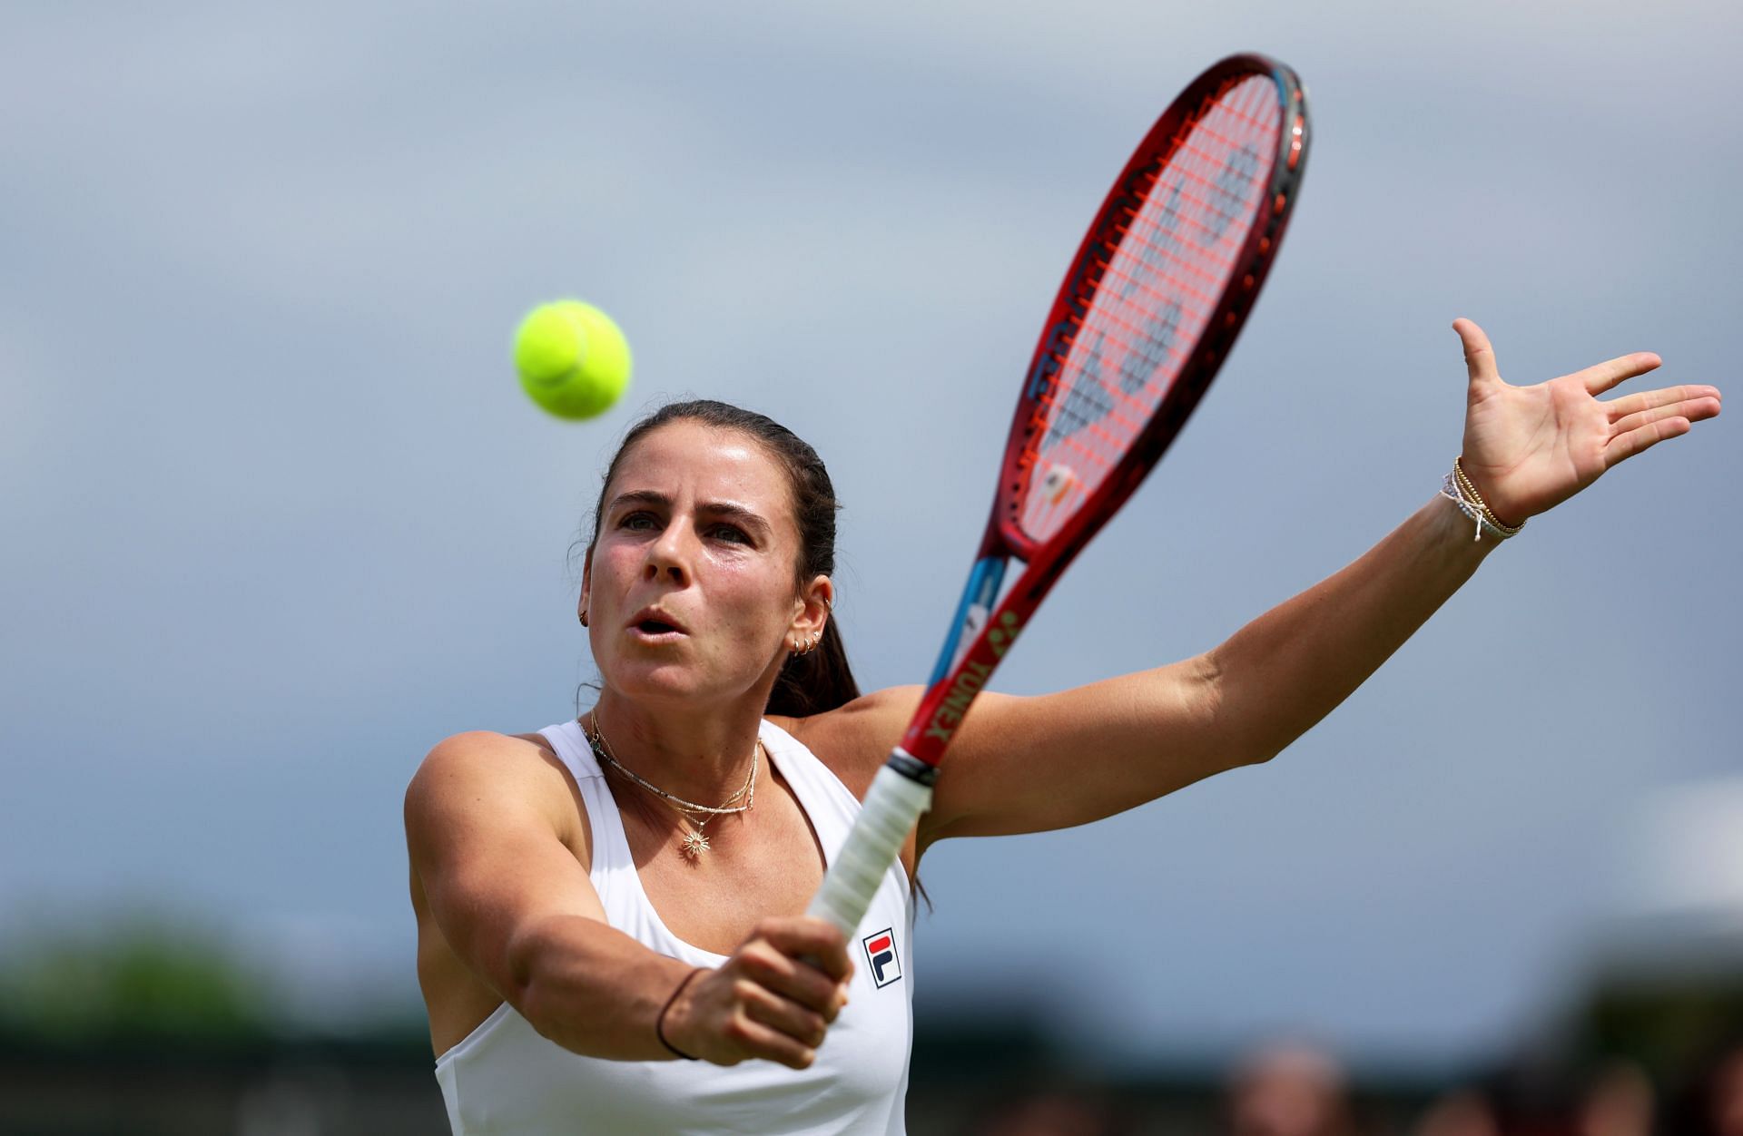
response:
<path id="1" fill-rule="evenodd" d="M 580 589 L 596 704 L 450 737 L 406 793 L 453 1131 L 901 1133 L 913 873 L 934 842 L 1084 824 L 1267 761 L 1529 517 L 1720 408 L 1705 385 L 1598 401 L 1651 354 L 1511 387 L 1476 324 L 1454 326 L 1469 404 L 1441 491 L 1204 655 L 983 695 L 851 939 L 800 913 L 919 690 L 854 685 L 830 477 L 720 402 L 631 429 Z"/>

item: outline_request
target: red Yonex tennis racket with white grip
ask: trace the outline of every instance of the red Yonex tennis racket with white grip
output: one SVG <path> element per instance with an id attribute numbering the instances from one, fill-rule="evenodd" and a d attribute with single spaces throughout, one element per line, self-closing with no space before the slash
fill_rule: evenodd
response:
<path id="1" fill-rule="evenodd" d="M 920 814 L 938 763 L 1035 606 L 1197 406 L 1300 188 L 1295 73 L 1231 56 L 1163 112 L 1072 258 L 1011 420 L 992 517 L 901 744 L 810 903 L 852 934 Z M 1000 599 L 1011 561 L 1027 565 Z"/>

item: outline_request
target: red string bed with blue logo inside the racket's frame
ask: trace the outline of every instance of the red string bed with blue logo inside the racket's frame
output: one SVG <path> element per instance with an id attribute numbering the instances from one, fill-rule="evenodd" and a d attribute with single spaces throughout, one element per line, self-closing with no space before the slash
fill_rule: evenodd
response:
<path id="1" fill-rule="evenodd" d="M 1156 416 L 1239 268 L 1281 129 L 1276 84 L 1232 80 L 1103 216 L 1018 458 L 1028 477 L 1013 507 L 1030 540 L 1060 531 Z"/>

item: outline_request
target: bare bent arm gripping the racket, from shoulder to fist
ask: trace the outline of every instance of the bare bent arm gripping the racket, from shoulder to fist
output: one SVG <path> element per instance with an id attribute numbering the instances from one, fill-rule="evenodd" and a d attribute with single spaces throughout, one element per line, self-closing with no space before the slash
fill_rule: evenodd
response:
<path id="1" fill-rule="evenodd" d="M 594 1058 L 671 1058 L 655 1024 L 694 967 L 607 925 L 565 842 L 575 817 L 568 779 L 539 747 L 457 734 L 406 789 L 411 871 L 453 953 L 540 1035 Z M 845 943 L 828 923 L 763 920 L 725 965 L 683 986 L 666 1038 L 716 1065 L 767 1058 L 805 1068 L 840 1011 L 847 972 Z"/>

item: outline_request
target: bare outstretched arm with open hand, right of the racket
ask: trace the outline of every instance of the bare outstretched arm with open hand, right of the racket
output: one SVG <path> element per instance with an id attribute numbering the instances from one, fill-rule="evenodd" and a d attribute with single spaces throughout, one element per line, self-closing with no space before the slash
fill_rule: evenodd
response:
<path id="1" fill-rule="evenodd" d="M 1719 390 L 1706 385 L 1598 401 L 1658 368 L 1652 354 L 1513 387 L 1476 324 L 1461 319 L 1454 329 L 1469 371 L 1462 467 L 1506 526 L 1719 413 Z M 1476 521 L 1434 497 L 1361 559 L 1204 655 L 1034 699 L 981 695 L 941 767 L 919 849 L 1084 824 L 1272 758 L 1373 674 L 1499 544 L 1492 530 L 1475 537 Z M 885 700 L 892 720 L 912 697 Z"/>

